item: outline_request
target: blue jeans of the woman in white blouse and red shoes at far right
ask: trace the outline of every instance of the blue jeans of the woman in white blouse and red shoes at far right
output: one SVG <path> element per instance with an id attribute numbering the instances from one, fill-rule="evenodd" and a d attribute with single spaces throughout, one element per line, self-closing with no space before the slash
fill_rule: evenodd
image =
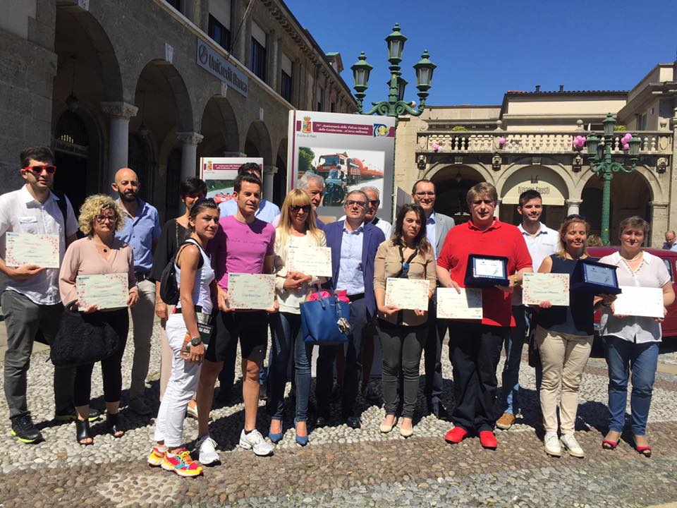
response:
<path id="1" fill-rule="evenodd" d="M 604 337 L 604 353 L 609 365 L 609 430 L 623 432 L 628 400 L 628 374 L 633 373 L 630 395 L 634 435 L 645 435 L 651 395 L 658 363 L 659 342 L 636 344 L 618 337 Z"/>

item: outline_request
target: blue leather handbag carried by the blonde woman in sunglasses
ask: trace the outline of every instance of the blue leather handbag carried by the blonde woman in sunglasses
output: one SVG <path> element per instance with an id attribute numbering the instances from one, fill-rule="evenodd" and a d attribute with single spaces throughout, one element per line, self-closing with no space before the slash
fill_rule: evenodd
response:
<path id="1" fill-rule="evenodd" d="M 318 295 L 319 296 L 319 295 Z M 301 334 L 306 344 L 346 344 L 350 334 L 350 303 L 336 294 L 300 304 Z"/>

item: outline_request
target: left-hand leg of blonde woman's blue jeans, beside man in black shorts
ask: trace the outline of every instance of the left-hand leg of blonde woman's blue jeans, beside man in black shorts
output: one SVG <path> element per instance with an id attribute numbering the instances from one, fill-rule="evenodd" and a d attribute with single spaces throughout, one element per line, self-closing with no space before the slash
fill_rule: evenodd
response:
<path id="1" fill-rule="evenodd" d="M 284 414 L 284 387 L 287 384 L 289 356 L 301 329 L 301 315 L 276 313 L 271 315 L 272 365 L 268 370 L 268 387 L 272 418 L 281 420 Z"/>

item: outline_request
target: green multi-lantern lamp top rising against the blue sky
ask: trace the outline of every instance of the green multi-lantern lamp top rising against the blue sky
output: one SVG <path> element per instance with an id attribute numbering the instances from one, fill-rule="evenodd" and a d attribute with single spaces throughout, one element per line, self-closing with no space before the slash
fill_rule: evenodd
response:
<path id="1" fill-rule="evenodd" d="M 372 102 L 372 109 L 366 113 L 362 110 L 362 101 L 366 95 L 365 91 L 369 86 L 369 74 L 373 67 L 367 63 L 367 56 L 365 56 L 364 52 L 360 53 L 358 61 L 350 67 L 355 80 L 353 88 L 355 89 L 355 97 L 358 99 L 359 114 L 394 116 L 397 123 L 399 115 L 410 114 L 412 116 L 419 116 L 423 112 L 423 109 L 425 109 L 425 99 L 428 97 L 428 90 L 430 90 L 430 83 L 432 82 L 432 71 L 437 66 L 429 60 L 430 55 L 427 50 L 423 51 L 420 61 L 415 63 L 414 69 L 416 71 L 416 87 L 418 89 L 419 103 L 418 109 L 413 109 L 412 103 L 403 100 L 407 81 L 401 78 L 400 62 L 402 61 L 402 52 L 406 40 L 407 38 L 400 32 L 399 23 L 395 23 L 393 32 L 386 37 L 391 75 L 388 100 Z"/>

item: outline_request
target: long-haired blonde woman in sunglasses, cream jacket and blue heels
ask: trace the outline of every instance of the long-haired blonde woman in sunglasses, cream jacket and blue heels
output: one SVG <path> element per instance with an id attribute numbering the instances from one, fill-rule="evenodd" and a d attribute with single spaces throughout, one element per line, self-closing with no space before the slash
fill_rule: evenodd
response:
<path id="1" fill-rule="evenodd" d="M 296 387 L 296 442 L 308 442 L 307 413 L 310 399 L 310 356 L 312 348 L 300 338 L 300 303 L 305 301 L 312 284 L 321 284 L 316 278 L 287 269 L 289 246 L 327 246 L 324 232 L 315 224 L 315 211 L 307 193 L 293 189 L 285 198 L 280 222 L 275 231 L 275 286 L 279 313 L 271 315 L 273 331 L 273 367 L 269 373 L 270 407 L 272 419 L 268 437 L 272 442 L 282 439 L 283 397 L 287 365 L 291 351 L 295 351 Z"/>

